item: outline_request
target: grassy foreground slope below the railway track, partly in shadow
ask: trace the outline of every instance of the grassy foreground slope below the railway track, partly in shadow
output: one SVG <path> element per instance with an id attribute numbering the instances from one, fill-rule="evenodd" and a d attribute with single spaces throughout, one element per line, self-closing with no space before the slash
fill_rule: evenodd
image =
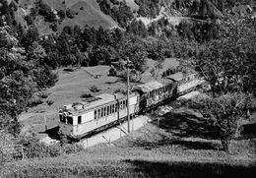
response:
<path id="1" fill-rule="evenodd" d="M 254 177 L 255 152 L 248 140 L 233 142 L 235 148 L 226 153 L 214 140 L 188 139 L 153 123 L 111 148 L 8 163 L 0 177 Z"/>

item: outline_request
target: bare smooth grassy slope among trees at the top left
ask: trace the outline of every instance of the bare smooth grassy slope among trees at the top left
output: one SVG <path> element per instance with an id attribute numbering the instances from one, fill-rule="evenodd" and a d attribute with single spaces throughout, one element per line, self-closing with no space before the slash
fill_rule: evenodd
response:
<path id="1" fill-rule="evenodd" d="M 34 6 L 35 0 L 21 0 L 20 4 L 22 7 L 32 7 Z M 78 15 L 75 15 L 73 19 L 66 18 L 60 25 L 58 24 L 58 33 L 65 26 L 80 26 L 85 27 L 86 25 L 95 27 L 96 29 L 101 26 L 104 29 L 110 27 L 117 27 L 116 23 L 111 19 L 111 17 L 103 14 L 96 0 L 66 0 L 63 4 L 64 0 L 43 0 L 46 4 L 48 4 L 52 9 L 56 10 L 66 10 L 67 8 L 75 11 Z M 81 10 L 80 8 L 84 9 Z M 27 9 L 28 10 L 28 9 Z M 19 22 L 22 22 L 21 15 L 17 15 L 17 19 Z M 22 23 L 24 24 L 24 23 Z M 49 23 L 45 23 L 42 17 L 37 17 L 35 21 L 36 27 L 41 34 L 49 34 L 53 33 L 53 31 L 49 28 Z"/>

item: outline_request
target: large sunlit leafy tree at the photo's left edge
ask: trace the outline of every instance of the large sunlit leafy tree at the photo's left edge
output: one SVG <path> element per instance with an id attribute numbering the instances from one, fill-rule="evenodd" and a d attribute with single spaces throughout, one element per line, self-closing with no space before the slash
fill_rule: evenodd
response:
<path id="1" fill-rule="evenodd" d="M 0 129 L 17 134 L 17 117 L 26 109 L 32 93 L 54 85 L 56 76 L 41 65 L 44 52 L 39 45 L 33 43 L 26 54 L 9 30 L 9 27 L 0 29 L 0 122 L 3 123 Z"/>

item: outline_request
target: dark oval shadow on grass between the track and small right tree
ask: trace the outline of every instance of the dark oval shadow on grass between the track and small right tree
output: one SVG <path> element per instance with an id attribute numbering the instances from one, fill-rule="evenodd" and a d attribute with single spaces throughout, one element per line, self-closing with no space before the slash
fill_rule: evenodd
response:
<path id="1" fill-rule="evenodd" d="M 157 124 L 157 121 L 155 122 Z M 167 113 L 160 119 L 159 127 L 173 136 L 202 139 L 218 139 L 219 135 L 214 128 L 203 118 L 191 113 Z"/>

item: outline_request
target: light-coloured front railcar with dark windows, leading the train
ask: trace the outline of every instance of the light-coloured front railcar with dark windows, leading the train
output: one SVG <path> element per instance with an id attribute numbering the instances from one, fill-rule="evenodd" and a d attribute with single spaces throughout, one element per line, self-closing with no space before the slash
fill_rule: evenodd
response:
<path id="1" fill-rule="evenodd" d="M 138 112 L 139 95 L 131 94 L 129 111 Z M 121 122 L 127 117 L 127 97 L 121 93 L 102 93 L 83 102 L 65 105 L 59 111 L 60 134 L 79 139 L 91 132 Z"/>

